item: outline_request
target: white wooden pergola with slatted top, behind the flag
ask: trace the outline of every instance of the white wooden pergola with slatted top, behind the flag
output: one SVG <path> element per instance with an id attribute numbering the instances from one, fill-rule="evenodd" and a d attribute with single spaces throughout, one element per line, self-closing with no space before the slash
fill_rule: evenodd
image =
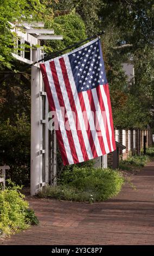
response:
<path id="1" fill-rule="evenodd" d="M 17 34 L 15 52 L 12 55 L 19 61 L 33 64 L 44 57 L 40 40 L 62 40 L 62 35 L 54 35 L 54 30 L 44 29 L 44 22 L 11 24 L 11 31 Z M 22 29 L 21 29 L 22 27 Z M 42 28 L 41 28 L 42 27 Z M 17 48 L 21 45 L 21 51 Z M 22 48 L 29 45 L 28 54 Z M 31 66 L 31 162 L 30 162 L 30 193 L 34 196 L 41 187 L 55 184 L 56 174 L 56 135 L 48 130 L 49 105 L 44 90 L 40 65 Z M 53 139 L 49 139 L 53 136 Z M 51 145 L 49 144 L 51 143 Z"/>

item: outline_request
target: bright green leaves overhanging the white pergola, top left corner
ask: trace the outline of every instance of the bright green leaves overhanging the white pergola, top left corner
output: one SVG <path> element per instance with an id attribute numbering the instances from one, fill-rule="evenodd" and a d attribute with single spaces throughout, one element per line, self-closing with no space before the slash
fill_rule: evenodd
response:
<path id="1" fill-rule="evenodd" d="M 48 0 L 1 0 L 0 5 L 0 69 L 11 69 L 14 42 L 10 29 L 12 23 L 37 21 L 53 16 Z"/>

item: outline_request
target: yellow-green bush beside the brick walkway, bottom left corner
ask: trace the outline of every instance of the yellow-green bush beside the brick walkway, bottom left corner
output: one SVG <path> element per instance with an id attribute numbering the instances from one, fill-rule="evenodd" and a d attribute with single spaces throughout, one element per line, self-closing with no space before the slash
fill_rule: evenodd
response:
<path id="1" fill-rule="evenodd" d="M 8 235 L 28 228 L 30 224 L 38 224 L 34 211 L 29 209 L 20 189 L 11 183 L 10 187 L 0 191 L 0 234 Z"/>

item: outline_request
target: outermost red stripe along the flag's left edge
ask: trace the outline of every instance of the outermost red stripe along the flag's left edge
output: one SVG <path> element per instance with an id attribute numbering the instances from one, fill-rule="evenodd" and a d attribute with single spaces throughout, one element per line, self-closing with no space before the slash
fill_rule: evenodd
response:
<path id="1" fill-rule="evenodd" d="M 41 68 L 41 72 L 42 72 L 42 75 L 43 75 L 43 81 L 44 81 L 44 86 L 46 88 L 46 92 L 47 92 L 47 96 L 48 96 L 50 110 L 51 111 L 56 111 L 54 100 L 53 100 L 53 95 L 52 95 L 52 92 L 50 90 L 50 85 L 49 85 L 48 76 L 47 76 L 47 72 L 46 72 L 46 66 L 44 64 L 42 64 L 42 65 L 40 65 L 40 68 Z M 56 113 L 56 116 L 54 118 L 57 119 L 57 113 Z M 59 146 L 60 146 L 59 148 L 60 148 L 60 153 L 61 153 L 61 156 L 62 156 L 63 164 L 64 165 L 69 164 L 69 161 L 68 161 L 69 157 L 66 154 L 65 145 L 64 145 L 64 142 L 63 142 L 63 136 L 61 134 L 60 129 L 56 130 L 56 136 L 57 136 L 57 141 L 59 142 Z"/>

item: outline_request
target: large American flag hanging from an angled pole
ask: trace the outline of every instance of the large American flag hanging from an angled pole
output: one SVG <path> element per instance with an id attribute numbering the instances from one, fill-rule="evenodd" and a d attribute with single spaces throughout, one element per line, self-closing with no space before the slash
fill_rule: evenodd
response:
<path id="1" fill-rule="evenodd" d="M 63 164 L 116 149 L 100 39 L 40 64 L 50 110 L 56 113 Z"/>

